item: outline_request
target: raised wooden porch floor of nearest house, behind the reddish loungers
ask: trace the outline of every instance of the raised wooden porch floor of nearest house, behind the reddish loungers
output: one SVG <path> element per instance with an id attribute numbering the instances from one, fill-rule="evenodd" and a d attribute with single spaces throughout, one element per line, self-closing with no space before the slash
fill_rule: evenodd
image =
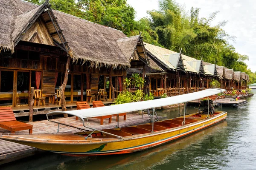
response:
<path id="1" fill-rule="evenodd" d="M 103 102 L 104 105 L 111 105 L 113 102 Z M 88 102 L 89 105 L 93 105 L 93 102 Z M 67 103 L 67 111 L 76 110 L 76 103 Z M 29 106 L 12 107 L 15 117 L 29 116 Z M 34 106 L 33 115 L 46 114 L 55 110 L 61 110 L 61 105 L 46 105 L 46 106 Z"/>

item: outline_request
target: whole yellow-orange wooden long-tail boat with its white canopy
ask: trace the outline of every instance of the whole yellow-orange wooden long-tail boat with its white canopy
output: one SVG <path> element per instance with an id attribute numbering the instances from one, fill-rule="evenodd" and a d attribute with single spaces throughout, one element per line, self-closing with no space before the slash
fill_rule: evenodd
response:
<path id="1" fill-rule="evenodd" d="M 202 130 L 223 121 L 227 117 L 225 111 L 212 111 L 180 116 L 173 119 L 155 122 L 154 108 L 188 102 L 224 92 L 224 89 L 207 89 L 195 93 L 183 94 L 162 99 L 143 102 L 111 105 L 101 108 L 90 108 L 76 111 L 47 113 L 49 116 L 67 113 L 79 117 L 84 127 L 79 133 L 51 134 L 1 134 L 0 139 L 37 147 L 42 150 L 60 153 L 68 156 L 93 156 L 132 153 L 170 142 L 174 139 Z M 209 102 L 208 102 L 209 104 Z M 209 105 L 208 105 L 209 106 Z M 151 123 L 113 129 L 97 130 L 89 127 L 84 119 L 96 116 L 106 116 L 152 108 Z M 209 108 L 209 107 L 208 107 Z M 55 122 L 60 123 L 60 122 Z M 61 123 L 60 123 L 61 124 Z"/>

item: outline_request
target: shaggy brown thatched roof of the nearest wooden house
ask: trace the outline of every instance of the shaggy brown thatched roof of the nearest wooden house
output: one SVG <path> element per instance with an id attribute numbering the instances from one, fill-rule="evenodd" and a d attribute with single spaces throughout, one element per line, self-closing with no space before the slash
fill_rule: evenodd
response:
<path id="1" fill-rule="evenodd" d="M 13 40 L 29 24 L 28 20 L 41 6 L 21 0 L 1 0 L 0 23 L 4 24 L 0 24 L 0 49 L 14 51 Z M 117 44 L 118 39 L 126 37 L 122 31 L 60 11 L 52 11 L 73 50 L 73 61 L 90 62 L 91 66 L 96 67 L 130 67 L 126 58 L 129 52 L 123 54 Z M 126 45 L 128 49 L 134 48 L 132 42 Z"/>

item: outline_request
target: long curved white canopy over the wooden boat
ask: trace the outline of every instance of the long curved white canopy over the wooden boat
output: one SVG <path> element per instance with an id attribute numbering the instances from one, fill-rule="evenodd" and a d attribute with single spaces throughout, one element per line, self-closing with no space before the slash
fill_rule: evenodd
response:
<path id="1" fill-rule="evenodd" d="M 189 94 L 183 94 L 179 96 L 173 97 L 166 97 L 162 99 L 155 99 L 155 100 L 148 100 L 143 102 L 132 102 L 132 103 L 125 103 L 120 105 L 110 105 L 100 108 L 90 108 L 90 109 L 82 109 L 82 110 L 75 110 L 75 111 L 54 111 L 47 113 L 47 116 L 56 115 L 56 114 L 69 114 L 73 116 L 77 116 L 81 119 L 90 118 L 90 117 L 97 117 L 97 116 L 107 116 L 119 113 L 128 113 L 132 111 L 140 111 L 145 110 L 148 108 L 157 108 L 167 105 L 175 105 L 179 103 L 184 103 L 188 101 L 192 101 L 195 99 L 201 99 L 207 96 L 211 96 L 214 94 L 223 93 L 224 89 L 221 88 L 212 88 L 203 91 L 198 91 Z"/>

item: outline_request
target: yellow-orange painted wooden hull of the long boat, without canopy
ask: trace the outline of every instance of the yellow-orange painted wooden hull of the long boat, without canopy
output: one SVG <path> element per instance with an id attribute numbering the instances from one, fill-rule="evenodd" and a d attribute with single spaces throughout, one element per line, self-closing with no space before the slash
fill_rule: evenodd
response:
<path id="1" fill-rule="evenodd" d="M 147 133 L 143 135 L 126 136 L 122 139 L 93 139 L 88 137 L 88 139 L 85 140 L 84 136 L 74 134 L 53 134 L 50 136 L 52 137 L 50 139 L 47 139 L 47 136 L 43 134 L 43 136 L 35 136 L 35 138 L 29 137 L 33 134 L 16 136 L 1 135 L 0 139 L 29 145 L 32 147 L 40 148 L 42 150 L 68 156 L 124 154 L 146 150 L 166 142 L 171 142 L 175 139 L 184 137 L 191 133 L 195 133 L 211 125 L 215 125 L 218 122 L 225 120 L 226 117 L 227 112 L 222 112 L 208 119 L 203 119 L 188 125 L 170 128 L 167 130 L 160 130 L 154 133 Z M 67 140 L 67 138 L 69 138 L 69 140 Z"/>

